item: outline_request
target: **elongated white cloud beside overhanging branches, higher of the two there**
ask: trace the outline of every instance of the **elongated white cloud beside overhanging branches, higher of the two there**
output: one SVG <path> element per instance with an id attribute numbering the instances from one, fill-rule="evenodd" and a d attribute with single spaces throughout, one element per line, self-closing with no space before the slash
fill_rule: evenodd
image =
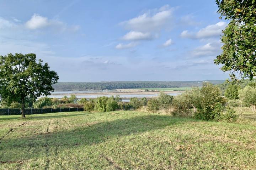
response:
<path id="1" fill-rule="evenodd" d="M 213 25 L 209 25 L 205 28 L 200 29 L 198 32 L 189 32 L 188 30 L 184 30 L 181 33 L 182 38 L 191 38 L 191 39 L 203 39 L 214 36 L 220 36 L 222 34 L 222 30 L 227 26 L 226 22 L 218 22 Z"/>

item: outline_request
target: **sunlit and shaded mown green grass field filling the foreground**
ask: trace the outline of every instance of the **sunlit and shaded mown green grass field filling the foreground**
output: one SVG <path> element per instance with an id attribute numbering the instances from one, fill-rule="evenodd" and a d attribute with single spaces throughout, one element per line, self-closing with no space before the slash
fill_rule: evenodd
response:
<path id="1" fill-rule="evenodd" d="M 0 169 L 256 169 L 256 126 L 137 111 L 0 116 Z"/>

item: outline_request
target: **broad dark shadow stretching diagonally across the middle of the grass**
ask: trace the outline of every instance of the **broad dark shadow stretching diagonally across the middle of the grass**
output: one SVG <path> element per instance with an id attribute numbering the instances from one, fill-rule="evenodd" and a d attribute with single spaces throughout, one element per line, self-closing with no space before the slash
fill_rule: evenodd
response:
<path id="1" fill-rule="evenodd" d="M 102 123 L 88 123 L 85 127 L 66 131 L 4 139 L 1 141 L 2 143 L 0 143 L 0 154 L 3 153 L 1 159 L 4 158 L 4 160 L 0 161 L 39 158 L 38 153 L 42 152 L 45 147 L 60 147 L 62 150 L 79 146 L 89 147 L 122 136 L 141 134 L 150 130 L 162 129 L 169 125 L 191 121 L 191 119 L 174 118 L 163 115 L 144 115 Z M 33 152 L 27 154 L 28 150 Z M 13 156 L 13 154 L 17 152 L 19 152 L 19 155 Z"/>

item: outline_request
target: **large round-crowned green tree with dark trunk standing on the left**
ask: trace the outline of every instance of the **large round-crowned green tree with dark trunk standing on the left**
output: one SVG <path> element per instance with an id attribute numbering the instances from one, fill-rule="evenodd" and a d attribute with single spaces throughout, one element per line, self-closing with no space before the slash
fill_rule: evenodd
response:
<path id="1" fill-rule="evenodd" d="M 36 60 L 33 53 L 21 53 L 0 56 L 0 95 L 2 100 L 20 98 L 21 113 L 25 118 L 25 98 L 37 98 L 50 95 L 52 85 L 59 77 L 56 72 L 49 70 L 48 63 Z"/>

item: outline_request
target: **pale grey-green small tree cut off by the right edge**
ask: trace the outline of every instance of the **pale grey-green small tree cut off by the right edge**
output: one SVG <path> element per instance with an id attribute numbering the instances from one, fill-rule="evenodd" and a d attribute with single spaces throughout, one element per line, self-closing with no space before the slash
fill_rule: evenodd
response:
<path id="1" fill-rule="evenodd" d="M 252 111 L 256 112 L 256 87 L 246 86 L 239 90 L 239 98 L 244 104 L 251 105 Z"/>

